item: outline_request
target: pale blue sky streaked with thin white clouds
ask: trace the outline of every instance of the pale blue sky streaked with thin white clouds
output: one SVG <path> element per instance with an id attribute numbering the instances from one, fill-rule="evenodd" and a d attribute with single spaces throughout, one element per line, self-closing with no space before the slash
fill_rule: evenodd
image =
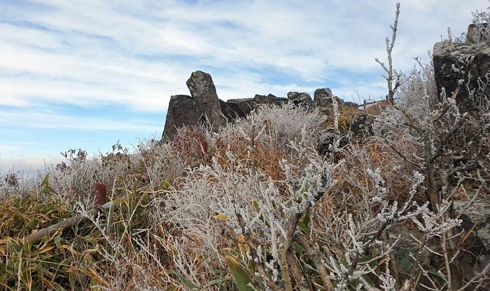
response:
<path id="1" fill-rule="evenodd" d="M 222 100 L 328 87 L 379 100 L 395 2 L 0 0 L 0 173 L 160 138 L 202 70 Z M 428 62 L 488 0 L 402 0 L 394 67 Z"/>

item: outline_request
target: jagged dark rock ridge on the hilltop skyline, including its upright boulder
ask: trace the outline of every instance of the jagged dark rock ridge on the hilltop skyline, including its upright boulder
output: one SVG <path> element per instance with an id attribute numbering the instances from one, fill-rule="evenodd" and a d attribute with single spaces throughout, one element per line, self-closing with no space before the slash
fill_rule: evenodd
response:
<path id="1" fill-rule="evenodd" d="M 174 95 L 170 97 L 162 139 L 172 140 L 177 128 L 181 126 L 195 126 L 205 123 L 213 128 L 219 128 L 227 122 L 250 114 L 253 109 L 263 104 L 293 102 L 293 104 L 310 108 L 318 107 L 324 114 L 331 114 L 332 98 L 335 98 L 340 109 L 345 107 L 358 108 L 358 104 L 344 102 L 339 97 L 332 95 L 332 90 L 329 88 L 317 89 L 314 100 L 308 93 L 289 92 L 287 98 L 272 94 L 257 94 L 253 98 L 230 99 L 225 102 L 218 98 L 211 75 L 202 71 L 193 72 L 187 81 L 187 86 L 190 96 Z"/>

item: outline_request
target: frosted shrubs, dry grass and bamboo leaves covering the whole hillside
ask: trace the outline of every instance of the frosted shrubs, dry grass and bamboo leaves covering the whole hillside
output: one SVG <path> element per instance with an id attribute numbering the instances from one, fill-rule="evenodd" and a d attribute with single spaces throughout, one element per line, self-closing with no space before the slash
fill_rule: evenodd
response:
<path id="1" fill-rule="evenodd" d="M 470 88 L 474 60 L 457 56 L 477 107 L 462 112 L 433 65 L 395 72 L 398 13 L 371 133 L 335 100 L 330 115 L 263 106 L 1 177 L 0 290 L 488 290 L 489 250 L 463 216 L 490 195 L 490 75 Z M 93 217 L 101 182 L 112 203 Z M 24 238 L 76 214 L 89 219 Z"/>

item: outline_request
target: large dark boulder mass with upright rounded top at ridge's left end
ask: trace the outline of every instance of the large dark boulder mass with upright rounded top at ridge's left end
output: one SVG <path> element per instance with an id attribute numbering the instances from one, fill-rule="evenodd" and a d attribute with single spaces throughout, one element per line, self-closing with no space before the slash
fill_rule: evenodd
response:
<path id="1" fill-rule="evenodd" d="M 193 72 L 187 80 L 187 86 L 191 96 L 175 95 L 170 98 L 162 138 L 172 139 L 176 128 L 181 126 L 195 126 L 199 123 L 213 128 L 224 126 L 227 116 L 223 114 L 222 107 L 230 115 L 228 118 L 233 116 L 232 109 L 221 104 L 218 99 L 210 74 Z"/>

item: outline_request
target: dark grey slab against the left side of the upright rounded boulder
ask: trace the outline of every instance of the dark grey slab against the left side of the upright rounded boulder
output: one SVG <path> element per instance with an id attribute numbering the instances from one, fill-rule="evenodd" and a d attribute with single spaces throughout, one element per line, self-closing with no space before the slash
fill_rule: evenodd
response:
<path id="1" fill-rule="evenodd" d="M 197 107 L 197 101 L 188 95 L 173 95 L 170 97 L 167 118 L 162 139 L 172 140 L 177 133 L 176 128 L 185 125 L 195 125 L 200 122 L 202 114 Z"/>

